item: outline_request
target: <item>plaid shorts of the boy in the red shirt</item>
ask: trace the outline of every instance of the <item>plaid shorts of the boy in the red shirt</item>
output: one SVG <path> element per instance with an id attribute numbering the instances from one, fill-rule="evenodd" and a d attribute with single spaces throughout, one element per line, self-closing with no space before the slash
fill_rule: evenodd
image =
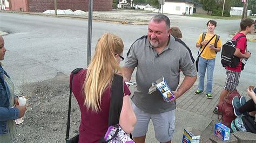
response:
<path id="1" fill-rule="evenodd" d="M 224 89 L 227 91 L 234 91 L 239 83 L 241 72 L 232 71 L 227 69 L 227 78 L 224 85 Z"/>

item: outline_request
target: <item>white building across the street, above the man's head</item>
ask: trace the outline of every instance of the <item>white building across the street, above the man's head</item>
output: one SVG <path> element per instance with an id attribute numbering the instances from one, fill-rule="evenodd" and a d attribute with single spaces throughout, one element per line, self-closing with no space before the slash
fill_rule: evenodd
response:
<path id="1" fill-rule="evenodd" d="M 163 12 L 172 15 L 193 15 L 193 0 L 165 0 Z"/>

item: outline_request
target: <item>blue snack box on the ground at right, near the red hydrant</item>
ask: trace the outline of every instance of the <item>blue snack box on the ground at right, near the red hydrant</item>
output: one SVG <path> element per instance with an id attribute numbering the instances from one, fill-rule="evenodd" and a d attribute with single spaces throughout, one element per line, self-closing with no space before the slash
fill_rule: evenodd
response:
<path id="1" fill-rule="evenodd" d="M 223 141 L 230 140 L 230 128 L 222 123 L 216 123 L 214 134 Z"/>

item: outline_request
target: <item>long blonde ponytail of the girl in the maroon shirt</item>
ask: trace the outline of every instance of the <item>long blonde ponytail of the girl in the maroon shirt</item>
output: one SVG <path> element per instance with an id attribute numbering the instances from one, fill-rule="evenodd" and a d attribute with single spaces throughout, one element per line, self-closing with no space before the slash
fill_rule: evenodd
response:
<path id="1" fill-rule="evenodd" d="M 98 112 L 103 92 L 112 83 L 113 75 L 121 71 L 116 54 L 122 54 L 124 44 L 121 38 L 105 33 L 98 39 L 95 55 L 87 68 L 83 84 L 84 105 L 87 110 Z"/>

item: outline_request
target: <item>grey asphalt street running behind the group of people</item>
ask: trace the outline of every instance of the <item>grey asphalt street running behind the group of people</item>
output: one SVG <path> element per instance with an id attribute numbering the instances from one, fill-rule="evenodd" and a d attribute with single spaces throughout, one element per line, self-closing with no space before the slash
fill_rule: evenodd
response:
<path id="1" fill-rule="evenodd" d="M 144 13 L 141 16 L 142 18 L 151 17 L 152 13 Z M 199 34 L 207 30 L 206 23 L 209 19 L 168 16 L 172 26 L 181 28 L 182 40 L 191 48 L 196 58 L 198 49 L 195 44 Z M 223 43 L 231 39 L 229 35 L 232 32 L 239 29 L 240 20 L 217 19 L 216 21 L 218 24 L 215 33 L 220 35 Z M 48 80 L 58 71 L 69 75 L 72 69 L 86 67 L 87 20 L 85 19 L 0 12 L 0 31 L 10 33 L 4 36 L 8 51 L 3 63 L 17 87 L 26 83 Z M 121 25 L 93 21 L 92 52 L 97 39 L 105 32 L 119 35 L 124 41 L 124 53 L 126 53 L 134 40 L 147 33 L 147 25 Z M 247 46 L 252 57 L 242 71 L 238 87 L 240 90 L 246 90 L 249 85 L 255 85 L 256 79 L 255 43 L 248 41 Z M 220 64 L 220 53 L 218 53 L 213 82 L 223 85 L 225 78 L 225 69 Z"/>

